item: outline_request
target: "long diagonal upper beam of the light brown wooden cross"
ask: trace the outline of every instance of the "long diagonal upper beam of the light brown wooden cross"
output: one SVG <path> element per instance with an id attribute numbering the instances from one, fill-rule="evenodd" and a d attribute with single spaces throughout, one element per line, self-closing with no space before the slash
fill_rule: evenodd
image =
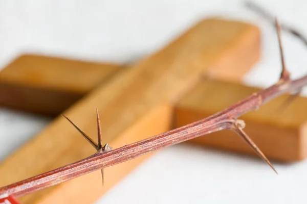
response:
<path id="1" fill-rule="evenodd" d="M 250 46 L 243 53 L 244 39 Z M 95 108 L 98 108 L 103 142 L 111 143 L 114 148 L 164 132 L 169 129 L 172 105 L 176 101 L 191 90 L 208 70 L 223 70 L 220 66 L 229 61 L 240 61 L 241 55 L 246 55 L 246 52 L 254 55 L 250 58 L 253 60 L 246 62 L 250 67 L 259 57 L 259 30 L 256 27 L 237 21 L 205 19 L 156 54 L 120 71 L 64 114 L 86 133 L 96 136 Z M 222 62 L 224 60 L 226 62 Z M 236 71 L 236 67 L 227 67 L 230 68 Z M 247 70 L 244 66 L 239 68 Z M 81 138 L 69 122 L 57 117 L 1 164 L 0 174 L 4 179 L 0 185 L 26 179 L 93 153 L 93 147 Z M 117 170 L 114 171 L 107 168 L 106 189 L 136 167 L 138 161 L 131 160 L 123 166 L 115 166 L 112 169 Z M 20 166 L 23 171 L 16 170 Z M 104 190 L 97 189 L 100 182 L 99 173 L 89 174 L 21 197 L 20 200 L 24 203 L 76 203 L 79 200 L 92 203 L 104 193 Z M 63 201 L 59 198 L 63 198 Z"/>

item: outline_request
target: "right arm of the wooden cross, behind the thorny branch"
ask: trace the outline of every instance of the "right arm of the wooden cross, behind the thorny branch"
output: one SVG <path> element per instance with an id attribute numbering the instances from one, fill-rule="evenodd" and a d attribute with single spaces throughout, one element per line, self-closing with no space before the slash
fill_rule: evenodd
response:
<path id="1" fill-rule="evenodd" d="M 175 110 L 175 126 L 210 116 L 258 90 L 242 84 L 204 80 L 179 101 Z M 240 119 L 246 122 L 245 132 L 269 159 L 295 162 L 307 156 L 307 98 L 299 96 L 281 110 L 287 97 L 288 94 L 273 99 Z M 212 133 L 190 142 L 256 156 L 232 131 Z"/>

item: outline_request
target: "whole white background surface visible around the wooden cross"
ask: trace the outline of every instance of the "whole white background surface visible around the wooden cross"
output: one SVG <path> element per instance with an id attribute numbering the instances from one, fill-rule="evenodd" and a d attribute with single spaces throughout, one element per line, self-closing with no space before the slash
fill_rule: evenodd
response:
<path id="1" fill-rule="evenodd" d="M 307 2 L 255 2 L 276 14 L 280 21 L 307 34 Z M 0 66 L 27 51 L 131 62 L 155 52 L 209 15 L 258 25 L 262 31 L 263 56 L 244 82 L 260 87 L 276 82 L 280 58 L 275 28 L 235 0 L 3 0 L 0 2 Z M 307 47 L 289 34 L 282 37 L 293 77 L 307 73 Z M 0 160 L 49 121 L 49 118 L 0 109 Z M 279 175 L 258 158 L 176 145 L 157 152 L 97 203 L 306 203 L 307 160 L 293 165 L 273 165 Z"/>

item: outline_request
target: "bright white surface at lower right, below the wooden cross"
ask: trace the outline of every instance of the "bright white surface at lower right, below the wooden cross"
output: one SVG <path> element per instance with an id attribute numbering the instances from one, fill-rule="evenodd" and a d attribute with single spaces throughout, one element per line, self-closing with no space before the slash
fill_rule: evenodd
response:
<path id="1" fill-rule="evenodd" d="M 175 145 L 158 151 L 97 203 L 305 203 L 307 162 L 273 165 L 279 175 L 260 158 Z"/>

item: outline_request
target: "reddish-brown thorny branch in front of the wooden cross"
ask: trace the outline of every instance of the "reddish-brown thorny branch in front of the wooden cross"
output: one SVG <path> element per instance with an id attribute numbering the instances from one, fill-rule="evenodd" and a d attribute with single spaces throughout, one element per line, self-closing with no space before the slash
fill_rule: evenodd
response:
<path id="1" fill-rule="evenodd" d="M 278 37 L 280 37 L 279 32 Z M 281 44 L 280 40 L 279 43 Z M 282 54 L 281 46 L 280 51 Z M 288 71 L 286 67 L 283 66 L 281 78 L 278 83 L 269 88 L 253 93 L 249 97 L 238 101 L 236 104 L 208 118 L 187 124 L 183 127 L 179 127 L 178 129 L 174 129 L 133 144 L 125 145 L 115 150 L 109 149 L 107 144 L 101 148 L 101 142 L 96 144 L 89 138 L 89 136 L 87 136 L 74 124 L 79 132 L 97 149 L 97 152 L 94 155 L 58 169 L 31 177 L 24 181 L 3 187 L 0 189 L 0 197 L 6 195 L 26 195 L 28 193 L 74 179 L 75 177 L 140 157 L 163 147 L 178 144 L 196 137 L 222 130 L 233 130 L 238 133 L 239 136 L 241 136 L 254 149 L 254 151 L 274 169 L 265 155 L 243 131 L 245 126 L 244 121 L 238 120 L 237 118 L 247 112 L 258 109 L 261 105 L 281 94 L 288 93 L 291 90 L 301 89 L 307 84 L 307 75 L 300 79 L 291 81 L 289 73 L 287 73 Z M 100 132 L 99 130 L 100 127 L 98 120 L 98 133 Z M 98 138 L 99 137 L 100 135 L 98 134 Z"/>

